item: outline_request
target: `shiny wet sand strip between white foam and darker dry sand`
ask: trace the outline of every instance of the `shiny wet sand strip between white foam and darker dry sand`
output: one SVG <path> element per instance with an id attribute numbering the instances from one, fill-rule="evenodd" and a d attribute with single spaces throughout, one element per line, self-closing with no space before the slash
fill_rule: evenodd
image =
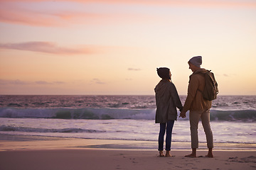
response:
<path id="1" fill-rule="evenodd" d="M 157 151 L 156 141 L 96 140 L 73 137 L 46 137 L 0 134 L 0 152 L 33 149 L 113 149 Z M 256 152 L 256 144 L 214 143 L 214 151 Z M 190 151 L 190 142 L 171 142 L 173 151 Z M 208 150 L 206 143 L 199 143 L 198 151 Z"/>

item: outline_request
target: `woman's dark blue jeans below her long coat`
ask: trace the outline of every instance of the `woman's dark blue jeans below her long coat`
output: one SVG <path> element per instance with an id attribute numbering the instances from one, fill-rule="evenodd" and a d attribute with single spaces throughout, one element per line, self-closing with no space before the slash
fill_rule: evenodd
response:
<path id="1" fill-rule="evenodd" d="M 167 127 L 166 127 L 167 124 Z M 166 151 L 171 150 L 171 134 L 174 128 L 174 120 L 169 120 L 167 123 L 160 123 L 159 132 L 159 151 L 164 150 L 164 133 L 166 131 Z"/>

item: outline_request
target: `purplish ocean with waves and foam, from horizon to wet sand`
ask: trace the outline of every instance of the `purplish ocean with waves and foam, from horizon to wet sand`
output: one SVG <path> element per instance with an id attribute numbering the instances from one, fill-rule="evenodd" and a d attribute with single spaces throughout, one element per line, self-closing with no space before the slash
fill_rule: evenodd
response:
<path id="1" fill-rule="evenodd" d="M 157 142 L 155 111 L 154 96 L 0 96 L 0 134 Z M 256 149 L 256 96 L 218 96 L 210 120 L 214 143 Z M 201 123 L 198 135 L 205 143 Z M 175 122 L 172 141 L 191 141 L 188 113 Z"/>

